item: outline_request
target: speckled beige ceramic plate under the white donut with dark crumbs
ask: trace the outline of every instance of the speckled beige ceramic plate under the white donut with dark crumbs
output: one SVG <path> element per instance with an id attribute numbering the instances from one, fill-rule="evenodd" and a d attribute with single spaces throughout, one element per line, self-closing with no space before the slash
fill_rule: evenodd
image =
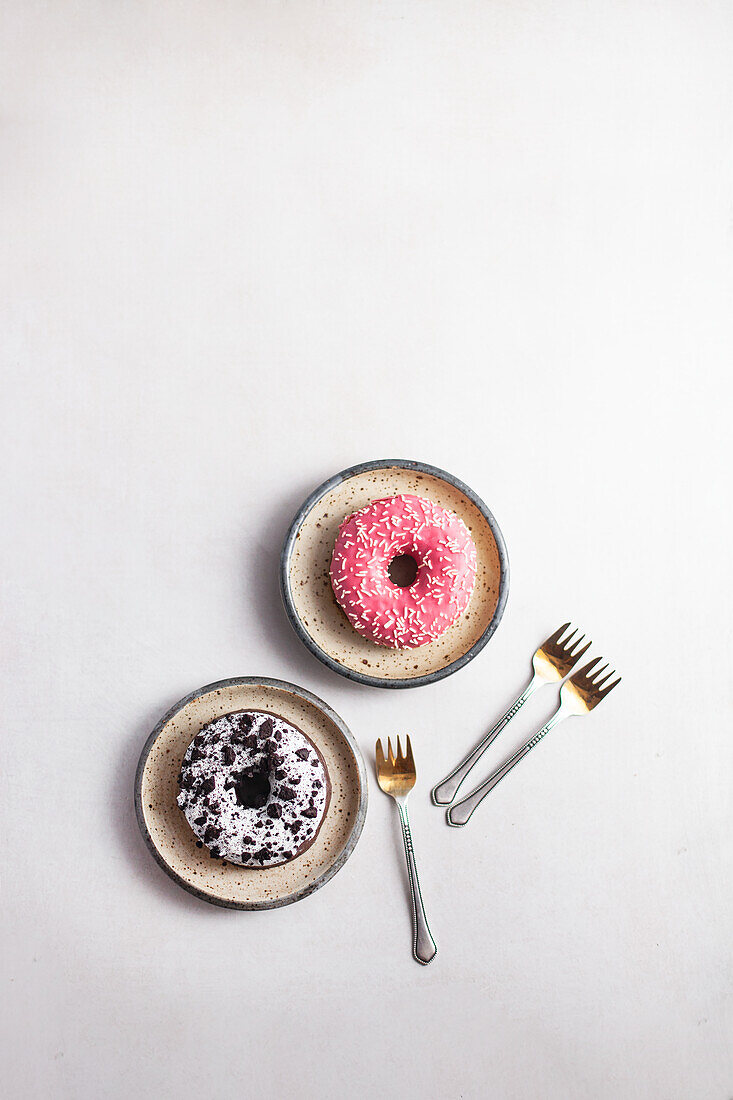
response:
<path id="1" fill-rule="evenodd" d="M 230 711 L 271 711 L 298 726 L 324 757 L 331 800 L 311 846 L 278 867 L 236 867 L 211 859 L 178 809 L 177 777 L 188 745 L 207 722 Z M 277 909 L 318 890 L 343 867 L 366 816 L 366 772 L 352 734 L 326 703 L 282 680 L 236 676 L 192 692 L 150 735 L 135 776 L 138 824 L 152 855 L 190 893 L 229 909 Z"/>

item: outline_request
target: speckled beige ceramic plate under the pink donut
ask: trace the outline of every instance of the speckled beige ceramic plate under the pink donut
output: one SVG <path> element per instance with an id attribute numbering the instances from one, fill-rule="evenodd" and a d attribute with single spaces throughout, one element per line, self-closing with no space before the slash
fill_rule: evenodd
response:
<path id="1" fill-rule="evenodd" d="M 440 638 L 417 649 L 390 649 L 361 637 L 337 604 L 329 578 L 341 521 L 370 501 L 398 493 L 428 497 L 457 513 L 478 551 L 466 612 Z M 285 539 L 281 587 L 296 634 L 335 672 L 376 688 L 417 688 L 457 672 L 486 645 L 504 612 L 508 560 L 496 520 L 468 485 L 424 462 L 381 459 L 343 470 L 311 493 Z"/>

